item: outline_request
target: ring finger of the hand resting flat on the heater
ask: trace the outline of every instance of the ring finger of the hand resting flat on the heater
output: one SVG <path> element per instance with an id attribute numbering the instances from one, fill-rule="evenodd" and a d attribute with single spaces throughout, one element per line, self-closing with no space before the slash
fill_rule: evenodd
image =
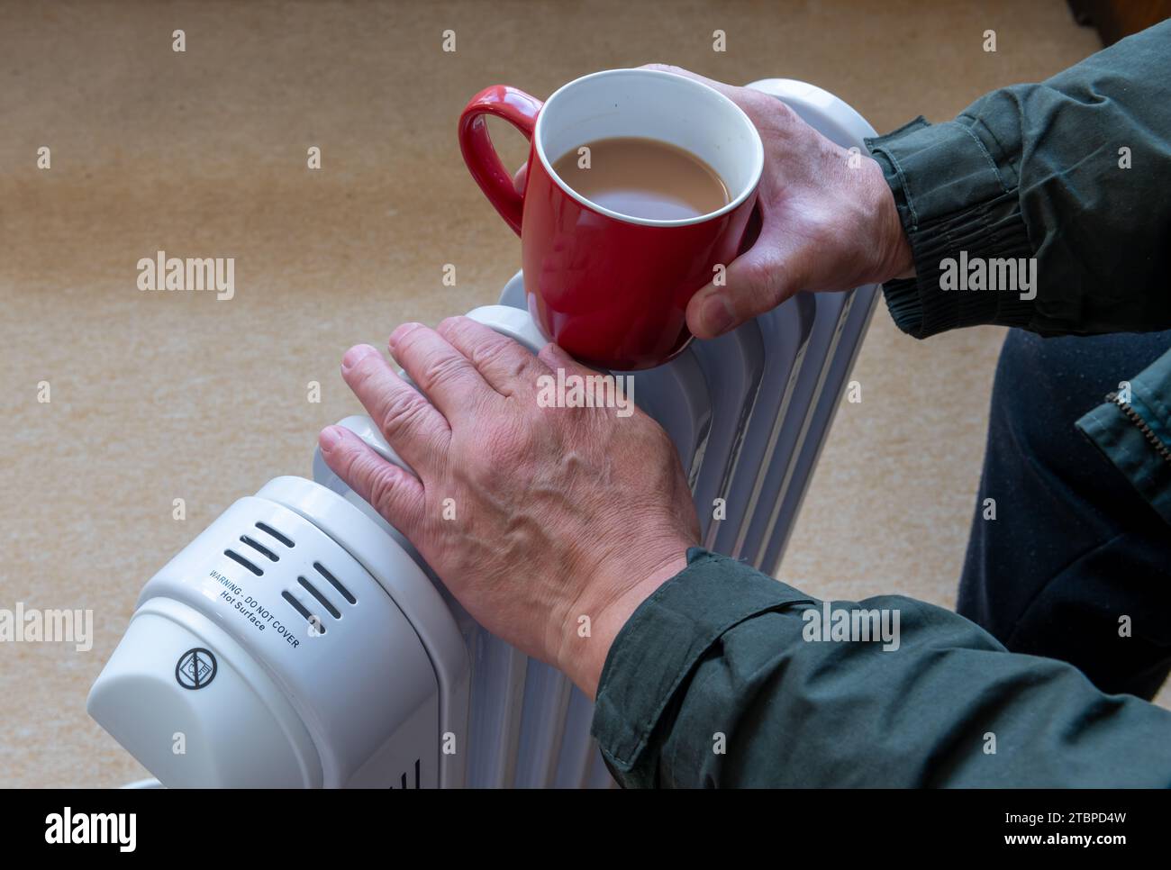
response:
<path id="1" fill-rule="evenodd" d="M 345 351 L 342 379 L 390 446 L 420 475 L 446 451 L 451 439 L 447 420 L 369 344 Z"/>

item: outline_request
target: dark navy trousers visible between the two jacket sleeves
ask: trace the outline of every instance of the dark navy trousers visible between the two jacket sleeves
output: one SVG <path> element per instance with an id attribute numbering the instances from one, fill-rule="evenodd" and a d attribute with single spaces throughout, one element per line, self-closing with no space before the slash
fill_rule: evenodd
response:
<path id="1" fill-rule="evenodd" d="M 1142 698 L 1171 669 L 1171 525 L 1074 422 L 1169 348 L 1171 331 L 1008 333 L 957 607 L 1013 652 Z"/>

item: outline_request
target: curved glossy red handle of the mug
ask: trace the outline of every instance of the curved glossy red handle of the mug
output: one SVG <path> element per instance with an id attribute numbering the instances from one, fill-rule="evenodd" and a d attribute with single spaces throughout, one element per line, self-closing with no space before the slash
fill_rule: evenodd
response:
<path id="1" fill-rule="evenodd" d="M 540 100 L 522 90 L 507 84 L 493 84 L 472 97 L 459 116 L 459 150 L 464 155 L 464 163 L 484 196 L 518 235 L 525 198 L 513 187 L 512 173 L 500 163 L 500 156 L 492 148 L 485 115 L 504 118 L 520 130 L 526 139 L 532 141 L 541 105 Z"/>

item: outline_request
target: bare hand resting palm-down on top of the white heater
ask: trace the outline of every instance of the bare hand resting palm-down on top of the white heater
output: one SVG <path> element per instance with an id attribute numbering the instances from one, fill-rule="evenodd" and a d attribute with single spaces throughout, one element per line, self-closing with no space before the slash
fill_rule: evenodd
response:
<path id="1" fill-rule="evenodd" d="M 403 324 L 390 350 L 425 397 L 370 345 L 342 377 L 415 474 L 338 426 L 326 463 L 480 624 L 594 697 L 618 630 L 699 537 L 673 445 L 632 403 L 539 405 L 542 375 L 596 376 L 555 344 L 533 356 L 451 317 Z"/>

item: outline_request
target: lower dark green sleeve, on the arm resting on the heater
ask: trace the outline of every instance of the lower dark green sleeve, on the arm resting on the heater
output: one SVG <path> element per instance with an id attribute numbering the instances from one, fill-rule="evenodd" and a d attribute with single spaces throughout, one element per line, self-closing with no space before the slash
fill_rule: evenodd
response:
<path id="1" fill-rule="evenodd" d="M 911 598 L 820 602 L 687 559 L 602 672 L 594 733 L 623 786 L 1171 785 L 1171 712 L 1071 665 Z M 842 639 L 842 612 L 891 630 Z"/>

